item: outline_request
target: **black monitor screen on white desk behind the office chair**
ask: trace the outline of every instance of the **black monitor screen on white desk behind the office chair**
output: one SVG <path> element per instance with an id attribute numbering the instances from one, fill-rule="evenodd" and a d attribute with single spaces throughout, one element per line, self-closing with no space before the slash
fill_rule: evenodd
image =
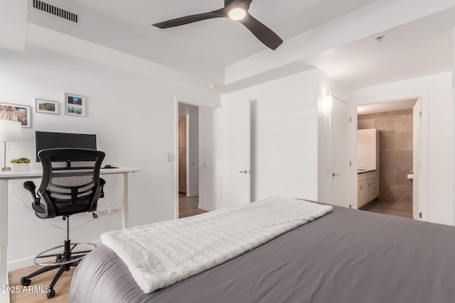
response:
<path id="1" fill-rule="evenodd" d="M 38 153 L 48 148 L 88 148 L 97 149 L 97 136 L 86 133 L 52 133 L 36 131 L 36 162 L 40 162 Z"/>

